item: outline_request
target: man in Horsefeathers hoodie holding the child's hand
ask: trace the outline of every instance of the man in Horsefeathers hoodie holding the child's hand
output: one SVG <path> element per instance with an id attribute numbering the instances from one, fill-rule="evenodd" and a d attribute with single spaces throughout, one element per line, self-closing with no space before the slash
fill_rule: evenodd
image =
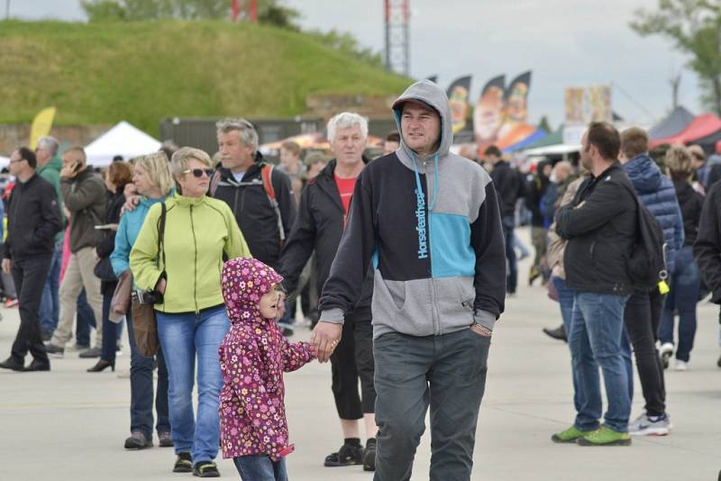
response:
<path id="1" fill-rule="evenodd" d="M 377 481 L 410 479 L 431 409 L 432 480 L 470 479 L 490 337 L 504 309 L 496 189 L 455 156 L 448 98 L 433 82 L 393 104 L 400 148 L 358 177 L 312 339 L 327 360 L 374 259 Z"/>

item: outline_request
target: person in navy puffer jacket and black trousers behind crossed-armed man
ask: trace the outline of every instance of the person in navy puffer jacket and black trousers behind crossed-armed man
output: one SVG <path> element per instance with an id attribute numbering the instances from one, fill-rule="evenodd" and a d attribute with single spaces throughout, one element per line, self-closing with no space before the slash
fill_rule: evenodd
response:
<path id="1" fill-rule="evenodd" d="M 634 185 L 638 199 L 661 224 L 667 272 L 675 268 L 676 254 L 683 246 L 683 219 L 676 190 L 669 177 L 648 156 L 648 134 L 638 127 L 621 133 L 621 163 Z M 666 413 L 666 388 L 663 366 L 656 340 L 659 336 L 664 294 L 659 286 L 634 286 L 625 308 L 623 351 L 629 378 L 629 392 L 634 397 L 631 346 L 641 380 L 645 405 L 628 427 L 635 436 L 663 436 L 670 432 L 671 420 Z"/>

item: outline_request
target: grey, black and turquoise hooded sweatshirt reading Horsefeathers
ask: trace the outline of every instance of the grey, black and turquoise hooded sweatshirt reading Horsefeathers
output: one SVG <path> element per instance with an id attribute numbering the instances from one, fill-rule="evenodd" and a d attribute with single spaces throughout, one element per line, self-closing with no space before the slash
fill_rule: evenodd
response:
<path id="1" fill-rule="evenodd" d="M 483 168 L 450 153 L 451 111 L 443 90 L 428 80 L 408 87 L 393 105 L 399 131 L 409 100 L 439 113 L 440 146 L 421 157 L 401 135 L 396 152 L 360 173 L 320 320 L 343 322 L 372 259 L 374 338 L 391 331 L 438 336 L 473 322 L 493 329 L 506 296 L 496 190 Z"/>

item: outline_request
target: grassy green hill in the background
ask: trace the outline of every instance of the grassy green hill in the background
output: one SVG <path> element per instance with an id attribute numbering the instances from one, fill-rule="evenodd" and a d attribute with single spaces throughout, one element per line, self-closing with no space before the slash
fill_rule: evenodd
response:
<path id="1" fill-rule="evenodd" d="M 58 124 L 288 116 L 308 94 L 397 95 L 408 80 L 312 38 L 220 22 L 0 22 L 0 123 L 58 107 Z"/>

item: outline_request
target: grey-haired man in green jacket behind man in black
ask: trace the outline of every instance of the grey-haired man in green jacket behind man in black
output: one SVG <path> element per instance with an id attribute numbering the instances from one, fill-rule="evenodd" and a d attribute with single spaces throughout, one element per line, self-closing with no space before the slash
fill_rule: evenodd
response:
<path id="1" fill-rule="evenodd" d="M 65 220 L 62 212 L 62 195 L 60 194 L 60 170 L 62 160 L 58 157 L 59 143 L 54 137 L 42 137 L 35 149 L 35 157 L 38 159 L 37 174 L 50 182 L 55 187 L 55 194 L 60 203 L 60 214 Z M 45 287 L 42 289 L 42 300 L 40 303 L 40 327 L 42 340 L 50 340 L 52 332 L 58 326 L 60 303 L 58 291 L 60 286 L 60 264 L 62 263 L 62 239 L 63 232 L 55 235 L 55 250 L 50 261 L 50 272 Z"/>

